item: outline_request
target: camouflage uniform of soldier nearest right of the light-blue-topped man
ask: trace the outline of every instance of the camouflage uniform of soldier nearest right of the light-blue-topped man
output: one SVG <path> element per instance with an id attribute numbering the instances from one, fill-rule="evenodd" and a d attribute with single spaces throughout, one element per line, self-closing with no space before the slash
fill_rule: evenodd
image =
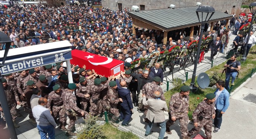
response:
<path id="1" fill-rule="evenodd" d="M 57 119 L 57 116 L 60 117 L 60 122 L 62 124 L 65 123 L 65 112 L 63 110 L 63 101 L 61 94 L 63 91 L 59 93 L 55 93 L 54 91 L 50 92 L 47 99 L 47 108 L 52 111 L 54 119 Z M 52 109 L 52 110 L 51 110 Z"/>

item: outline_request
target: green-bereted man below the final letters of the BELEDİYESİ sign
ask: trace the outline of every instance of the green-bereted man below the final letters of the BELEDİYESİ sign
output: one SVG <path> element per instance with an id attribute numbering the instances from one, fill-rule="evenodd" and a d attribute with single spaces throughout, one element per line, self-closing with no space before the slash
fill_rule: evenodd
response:
<path id="1" fill-rule="evenodd" d="M 50 93 L 48 90 L 48 80 L 44 75 L 40 75 L 38 79 L 36 87 L 40 90 L 42 96 L 47 98 L 48 93 Z"/>

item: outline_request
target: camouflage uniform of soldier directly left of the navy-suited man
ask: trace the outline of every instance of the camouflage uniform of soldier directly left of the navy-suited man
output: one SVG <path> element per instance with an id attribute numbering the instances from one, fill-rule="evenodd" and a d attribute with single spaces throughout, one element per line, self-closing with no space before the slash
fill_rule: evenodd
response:
<path id="1" fill-rule="evenodd" d="M 120 102 L 120 100 L 118 98 L 118 92 L 116 91 L 116 89 L 109 87 L 106 98 L 107 106 L 110 106 L 109 112 L 111 112 L 111 114 L 114 115 L 112 119 L 117 120 L 119 117 L 117 105 Z"/>

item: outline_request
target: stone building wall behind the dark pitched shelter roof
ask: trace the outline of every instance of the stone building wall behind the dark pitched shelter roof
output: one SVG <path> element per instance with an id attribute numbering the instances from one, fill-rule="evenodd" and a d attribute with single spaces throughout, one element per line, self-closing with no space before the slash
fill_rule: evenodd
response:
<path id="1" fill-rule="evenodd" d="M 145 5 L 145 10 L 159 9 L 159 8 L 168 8 L 171 4 L 177 7 L 190 7 L 196 6 L 197 2 L 201 2 L 202 5 L 208 5 L 215 8 L 215 10 L 225 12 L 225 10 L 229 11 L 231 14 L 231 10 L 233 6 L 235 8 L 240 8 L 242 5 L 242 0 L 117 0 L 118 3 L 122 3 L 122 8 L 131 7 L 133 5 Z M 102 6 L 107 8 L 111 8 L 114 10 L 118 9 L 116 6 L 116 0 L 102 0 Z"/>

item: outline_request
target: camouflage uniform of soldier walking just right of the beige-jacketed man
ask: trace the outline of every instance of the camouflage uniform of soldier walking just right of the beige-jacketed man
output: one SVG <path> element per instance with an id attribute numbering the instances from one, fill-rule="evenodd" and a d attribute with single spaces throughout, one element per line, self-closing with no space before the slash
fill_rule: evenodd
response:
<path id="1" fill-rule="evenodd" d="M 176 120 L 180 120 L 180 131 L 182 137 L 186 137 L 188 133 L 189 117 L 187 111 L 189 110 L 189 96 L 182 97 L 180 92 L 171 96 L 169 104 L 169 120 L 166 122 L 166 128 L 169 128 L 175 123 L 171 120 L 171 117 L 176 117 Z"/>

